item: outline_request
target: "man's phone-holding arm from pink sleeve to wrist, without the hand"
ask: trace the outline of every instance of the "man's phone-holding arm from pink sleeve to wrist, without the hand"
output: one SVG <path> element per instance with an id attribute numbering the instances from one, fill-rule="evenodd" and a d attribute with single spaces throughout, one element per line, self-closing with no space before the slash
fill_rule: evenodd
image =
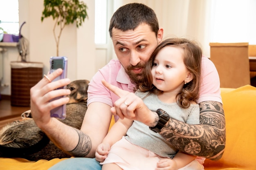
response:
<path id="1" fill-rule="evenodd" d="M 108 133 L 111 121 L 110 106 L 93 102 L 88 106 L 81 130 L 52 118 L 40 126 L 58 148 L 74 157 L 95 157 L 95 150 Z"/>

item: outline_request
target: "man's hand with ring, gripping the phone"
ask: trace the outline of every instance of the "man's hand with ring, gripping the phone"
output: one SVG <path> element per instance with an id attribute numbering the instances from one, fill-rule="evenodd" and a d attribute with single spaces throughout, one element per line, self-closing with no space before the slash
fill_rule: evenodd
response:
<path id="1" fill-rule="evenodd" d="M 50 81 L 43 77 L 43 79 L 30 89 L 31 114 L 37 126 L 42 130 L 51 127 L 51 122 L 53 121 L 51 119 L 50 111 L 69 101 L 69 97 L 52 100 L 58 96 L 70 95 L 69 89 L 55 90 L 61 86 L 70 84 L 70 79 L 60 79 L 57 82 L 52 82 L 53 79 L 60 76 L 62 73 L 63 70 L 59 68 L 52 74 L 47 75 Z"/>

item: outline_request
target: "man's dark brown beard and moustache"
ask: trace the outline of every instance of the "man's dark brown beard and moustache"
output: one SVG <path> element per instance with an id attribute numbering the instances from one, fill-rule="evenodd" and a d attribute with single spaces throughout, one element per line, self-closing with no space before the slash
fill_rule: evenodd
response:
<path id="1" fill-rule="evenodd" d="M 126 74 L 128 74 L 130 80 L 132 81 L 133 84 L 140 84 L 141 82 L 144 82 L 145 75 L 144 75 L 144 70 L 141 71 L 141 73 L 133 73 L 133 69 L 137 68 L 144 68 L 145 65 L 138 63 L 136 66 L 128 66 L 125 69 Z"/>

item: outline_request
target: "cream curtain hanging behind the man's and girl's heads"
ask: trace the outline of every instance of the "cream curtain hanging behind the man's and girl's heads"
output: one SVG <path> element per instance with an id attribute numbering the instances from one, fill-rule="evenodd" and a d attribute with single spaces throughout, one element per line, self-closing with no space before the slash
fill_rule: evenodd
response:
<path id="1" fill-rule="evenodd" d="M 164 37 L 186 37 L 198 41 L 209 56 L 211 0 L 114 0 L 114 11 L 124 4 L 138 2 L 151 7 L 164 28 Z"/>

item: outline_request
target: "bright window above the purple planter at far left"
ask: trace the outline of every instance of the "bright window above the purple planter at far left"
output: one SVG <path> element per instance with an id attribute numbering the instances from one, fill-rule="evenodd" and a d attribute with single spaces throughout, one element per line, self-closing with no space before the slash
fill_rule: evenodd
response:
<path id="1" fill-rule="evenodd" d="M 0 0 L 0 27 L 9 34 L 19 33 L 18 0 Z"/>

